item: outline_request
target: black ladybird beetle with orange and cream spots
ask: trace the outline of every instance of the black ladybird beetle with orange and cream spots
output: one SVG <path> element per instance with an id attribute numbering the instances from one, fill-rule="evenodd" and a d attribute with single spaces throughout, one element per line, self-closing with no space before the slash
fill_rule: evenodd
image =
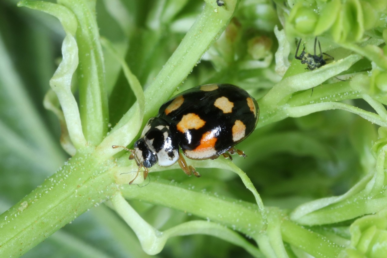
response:
<path id="1" fill-rule="evenodd" d="M 194 87 L 164 103 L 156 117 L 146 123 L 141 138 L 134 143 L 129 159 L 139 169 L 158 163 L 168 167 L 176 162 L 187 175 L 200 174 L 187 166 L 179 148 L 189 159 L 216 159 L 219 155 L 246 155 L 234 146 L 257 126 L 259 106 L 245 90 L 231 84 L 207 84 Z M 134 178 L 134 179 L 135 179 Z M 131 184 L 130 181 L 129 184 Z"/>

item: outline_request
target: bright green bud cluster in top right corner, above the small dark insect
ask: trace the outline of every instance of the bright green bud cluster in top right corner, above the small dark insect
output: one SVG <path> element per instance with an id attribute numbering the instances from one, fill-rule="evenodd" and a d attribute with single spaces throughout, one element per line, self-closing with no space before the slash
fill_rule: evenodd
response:
<path id="1" fill-rule="evenodd" d="M 374 29 L 384 24 L 386 7 L 385 0 L 300 0 L 291 7 L 284 27 L 298 35 L 325 32 L 336 42 L 357 42 L 370 35 L 368 30 L 377 33 Z"/>

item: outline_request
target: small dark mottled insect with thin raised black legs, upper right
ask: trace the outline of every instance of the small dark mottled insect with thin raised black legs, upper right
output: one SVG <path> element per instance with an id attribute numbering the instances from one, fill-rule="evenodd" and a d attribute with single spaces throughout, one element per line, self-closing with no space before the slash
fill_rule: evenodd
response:
<path id="1" fill-rule="evenodd" d="M 304 44 L 304 48 L 302 49 L 301 54 L 299 56 L 297 56 L 298 55 L 298 49 L 300 48 L 300 44 L 301 44 L 301 39 L 300 39 L 300 41 L 298 41 L 298 45 L 297 45 L 297 49 L 296 49 L 296 54 L 295 54 L 294 57 L 296 59 L 298 59 L 298 60 L 301 60 L 301 63 L 306 63 L 307 64 L 307 68 L 305 68 L 305 69 L 315 70 L 317 68 L 322 67 L 323 65 L 326 65 L 327 61 L 334 60 L 333 56 L 328 55 L 327 53 L 323 53 L 321 51 L 320 41 L 319 41 L 320 55 L 319 56 L 316 55 L 317 37 L 315 38 L 314 55 L 311 55 L 311 54 L 305 52 L 305 44 Z M 323 55 L 328 56 L 328 58 L 324 59 Z"/>

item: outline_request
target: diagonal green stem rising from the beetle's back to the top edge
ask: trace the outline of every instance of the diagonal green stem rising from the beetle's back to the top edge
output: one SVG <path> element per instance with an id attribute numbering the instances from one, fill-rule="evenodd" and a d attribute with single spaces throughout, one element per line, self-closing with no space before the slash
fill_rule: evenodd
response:
<path id="1" fill-rule="evenodd" d="M 187 32 L 182 43 L 146 89 L 148 102 L 156 101 L 153 105 L 146 105 L 146 118 L 157 112 L 159 106 L 173 94 L 205 51 L 224 31 L 234 14 L 237 2 L 236 0 L 227 1 L 226 9 L 219 8 L 216 1 L 206 1 L 203 12 Z"/>

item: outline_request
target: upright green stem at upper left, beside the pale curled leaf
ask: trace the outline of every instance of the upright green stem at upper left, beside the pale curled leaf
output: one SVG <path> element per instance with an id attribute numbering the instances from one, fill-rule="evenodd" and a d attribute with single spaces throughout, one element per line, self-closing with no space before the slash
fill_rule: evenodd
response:
<path id="1" fill-rule="evenodd" d="M 80 118 L 87 142 L 98 145 L 108 129 L 108 95 L 95 1 L 60 0 L 58 3 L 72 10 L 78 20 Z"/>

